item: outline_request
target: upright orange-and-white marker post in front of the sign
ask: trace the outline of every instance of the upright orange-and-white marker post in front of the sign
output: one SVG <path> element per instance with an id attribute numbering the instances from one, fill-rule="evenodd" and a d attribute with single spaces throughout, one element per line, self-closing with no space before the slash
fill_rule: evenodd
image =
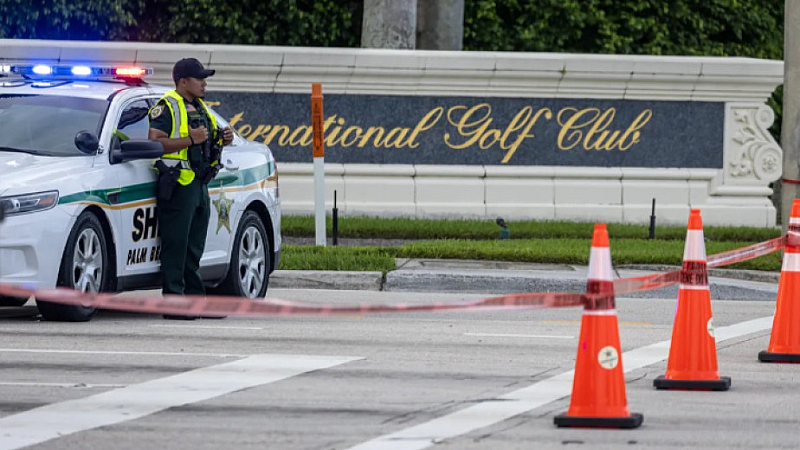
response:
<path id="1" fill-rule="evenodd" d="M 316 244 L 325 247 L 325 124 L 322 84 L 311 85 L 311 137 L 314 154 L 314 228 Z"/>

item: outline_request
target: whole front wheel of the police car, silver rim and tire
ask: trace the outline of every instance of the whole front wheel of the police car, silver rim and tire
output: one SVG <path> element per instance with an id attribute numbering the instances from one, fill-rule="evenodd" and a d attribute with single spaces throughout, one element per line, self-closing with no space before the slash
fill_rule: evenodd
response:
<path id="1" fill-rule="evenodd" d="M 58 285 L 81 292 L 103 292 L 111 282 L 111 260 L 107 239 L 100 220 L 91 212 L 84 212 L 69 234 Z M 97 308 L 37 301 L 39 312 L 47 320 L 86 322 Z"/>

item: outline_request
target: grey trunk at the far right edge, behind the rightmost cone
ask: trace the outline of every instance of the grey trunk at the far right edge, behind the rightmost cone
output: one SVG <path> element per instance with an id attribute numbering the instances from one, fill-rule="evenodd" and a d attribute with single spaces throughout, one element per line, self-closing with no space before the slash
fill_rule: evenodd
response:
<path id="1" fill-rule="evenodd" d="M 783 148 L 783 179 L 781 182 L 781 225 L 783 232 L 789 228 L 792 202 L 798 196 L 798 156 L 800 156 L 800 2 L 786 0 L 783 39 L 783 123 L 781 147 Z"/>

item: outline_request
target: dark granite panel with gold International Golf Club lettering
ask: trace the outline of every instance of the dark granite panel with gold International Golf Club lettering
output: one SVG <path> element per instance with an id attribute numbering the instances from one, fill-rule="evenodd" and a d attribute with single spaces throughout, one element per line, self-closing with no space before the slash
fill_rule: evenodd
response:
<path id="1" fill-rule="evenodd" d="M 278 161 L 311 162 L 310 94 L 207 100 Z M 324 94 L 325 161 L 722 168 L 724 104 Z"/>

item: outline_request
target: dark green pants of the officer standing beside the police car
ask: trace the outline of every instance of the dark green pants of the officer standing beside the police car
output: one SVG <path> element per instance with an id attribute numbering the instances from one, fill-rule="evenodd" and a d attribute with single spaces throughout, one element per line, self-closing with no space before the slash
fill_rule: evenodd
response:
<path id="1" fill-rule="evenodd" d="M 178 184 L 169 201 L 158 200 L 164 294 L 205 295 L 200 257 L 206 246 L 208 187 L 195 179 Z"/>

